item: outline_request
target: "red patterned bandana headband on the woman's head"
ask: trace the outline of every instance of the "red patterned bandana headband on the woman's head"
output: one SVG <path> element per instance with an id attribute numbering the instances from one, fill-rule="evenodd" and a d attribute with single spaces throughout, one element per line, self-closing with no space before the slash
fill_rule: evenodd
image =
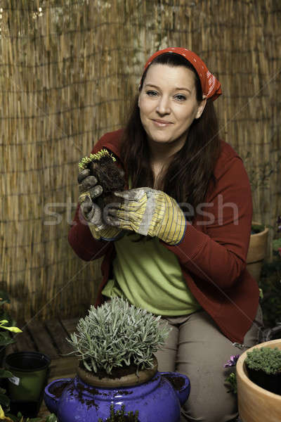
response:
<path id="1" fill-rule="evenodd" d="M 203 95 L 205 95 L 207 98 L 211 98 L 212 101 L 214 101 L 216 98 L 218 98 L 218 96 L 221 95 L 221 84 L 218 82 L 218 79 L 216 79 L 216 77 L 214 77 L 214 75 L 209 72 L 204 61 L 201 60 L 197 54 L 193 53 L 193 51 L 188 49 L 181 49 L 181 47 L 169 47 L 168 49 L 156 51 L 156 53 L 152 54 L 152 56 L 145 63 L 143 72 L 145 72 L 150 63 L 152 63 L 152 60 L 164 53 L 180 54 L 192 64 L 197 72 L 197 75 L 200 77 Z"/>

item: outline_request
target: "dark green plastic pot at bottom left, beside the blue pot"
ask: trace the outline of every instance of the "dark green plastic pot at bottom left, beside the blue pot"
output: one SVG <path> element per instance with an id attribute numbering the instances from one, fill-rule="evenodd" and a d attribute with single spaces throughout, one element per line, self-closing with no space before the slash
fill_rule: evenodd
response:
<path id="1" fill-rule="evenodd" d="M 7 382 L 13 413 L 20 411 L 23 416 L 37 416 L 50 363 L 51 359 L 40 352 L 16 352 L 5 357 L 4 366 L 13 373 Z"/>

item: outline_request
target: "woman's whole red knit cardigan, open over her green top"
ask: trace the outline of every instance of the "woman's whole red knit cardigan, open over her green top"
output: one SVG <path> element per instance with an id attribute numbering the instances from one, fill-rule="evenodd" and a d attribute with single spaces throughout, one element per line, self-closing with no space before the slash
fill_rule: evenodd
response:
<path id="1" fill-rule="evenodd" d="M 122 130 L 105 134 L 92 153 L 107 148 L 119 158 L 121 136 Z M 188 224 L 183 241 L 176 246 L 162 244 L 174 252 L 188 288 L 221 332 L 231 341 L 243 343 L 259 305 L 259 287 L 246 269 L 252 217 L 251 188 L 242 160 L 224 141 L 214 175 L 216 186 L 207 194 L 195 221 Z M 114 242 L 93 238 L 79 205 L 68 240 L 82 260 L 104 257 L 98 306 L 105 299 L 101 291 L 112 276 Z"/>

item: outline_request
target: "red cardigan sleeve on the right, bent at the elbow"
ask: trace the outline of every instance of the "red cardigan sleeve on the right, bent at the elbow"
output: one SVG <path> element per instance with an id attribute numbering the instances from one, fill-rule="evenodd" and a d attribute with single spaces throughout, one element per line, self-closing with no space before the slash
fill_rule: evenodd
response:
<path id="1" fill-rule="evenodd" d="M 235 156 L 223 165 L 214 191 L 197 208 L 195 222 L 186 227 L 183 241 L 174 246 L 163 244 L 195 278 L 230 288 L 246 267 L 251 217 L 249 179 L 242 160 Z"/>

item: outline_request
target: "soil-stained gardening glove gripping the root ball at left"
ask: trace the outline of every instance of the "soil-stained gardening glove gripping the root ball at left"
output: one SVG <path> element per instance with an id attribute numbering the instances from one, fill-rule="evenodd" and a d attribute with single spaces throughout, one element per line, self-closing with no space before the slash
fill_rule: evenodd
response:
<path id="1" fill-rule="evenodd" d="M 103 193 L 102 186 L 97 184 L 97 179 L 90 176 L 90 170 L 85 169 L 78 174 L 79 204 L 81 212 L 89 223 L 93 238 L 103 241 L 115 241 L 122 234 L 122 229 L 110 226 L 103 222 L 102 211 L 97 203 L 98 197 Z"/>

